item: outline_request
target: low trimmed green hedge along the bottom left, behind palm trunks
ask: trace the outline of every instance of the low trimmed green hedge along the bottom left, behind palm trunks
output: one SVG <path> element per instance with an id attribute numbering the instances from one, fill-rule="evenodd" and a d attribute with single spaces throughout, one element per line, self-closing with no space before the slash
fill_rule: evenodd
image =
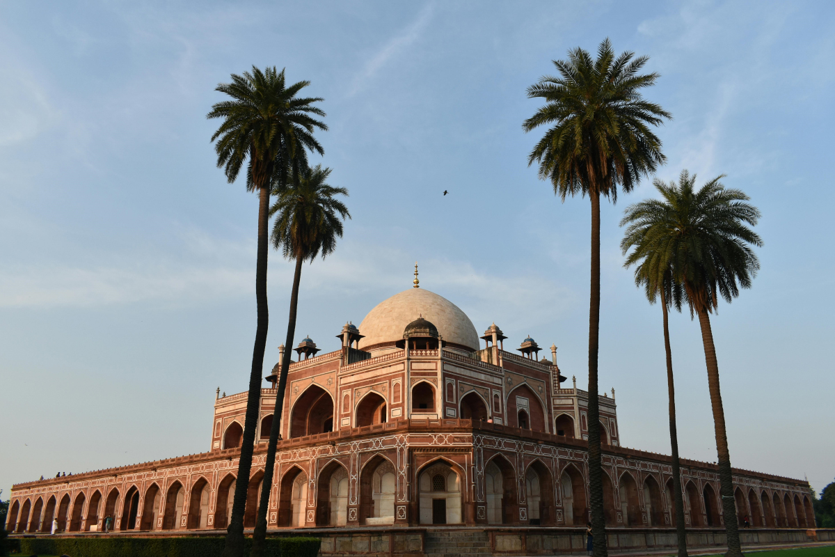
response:
<path id="1" fill-rule="evenodd" d="M 68 554 L 72 557 L 220 557 L 224 538 L 23 538 L 23 554 Z M 245 540 L 245 554 L 252 539 Z M 267 538 L 266 554 L 275 557 L 316 557 L 321 539 Z"/>

